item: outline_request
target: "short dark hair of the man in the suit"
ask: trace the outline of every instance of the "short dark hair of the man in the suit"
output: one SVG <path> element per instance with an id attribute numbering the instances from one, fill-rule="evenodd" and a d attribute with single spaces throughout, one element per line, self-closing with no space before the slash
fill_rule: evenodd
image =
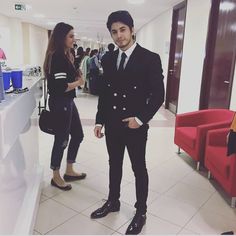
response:
<path id="1" fill-rule="evenodd" d="M 130 30 L 134 27 L 134 21 L 132 16 L 128 11 L 115 11 L 112 12 L 107 19 L 107 28 L 111 31 L 111 25 L 115 22 L 121 22 L 127 26 L 129 26 Z"/>

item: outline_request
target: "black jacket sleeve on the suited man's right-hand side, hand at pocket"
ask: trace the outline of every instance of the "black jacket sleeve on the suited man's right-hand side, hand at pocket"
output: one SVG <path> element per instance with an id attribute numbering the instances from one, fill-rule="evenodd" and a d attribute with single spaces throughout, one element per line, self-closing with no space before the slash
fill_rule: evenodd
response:
<path id="1" fill-rule="evenodd" d="M 149 62 L 149 70 L 147 75 L 147 86 L 149 90 L 149 97 L 144 109 L 140 111 L 137 118 L 144 124 L 155 115 L 158 109 L 164 102 L 165 90 L 163 83 L 163 70 L 161 65 L 161 59 L 158 54 L 152 54 Z"/>

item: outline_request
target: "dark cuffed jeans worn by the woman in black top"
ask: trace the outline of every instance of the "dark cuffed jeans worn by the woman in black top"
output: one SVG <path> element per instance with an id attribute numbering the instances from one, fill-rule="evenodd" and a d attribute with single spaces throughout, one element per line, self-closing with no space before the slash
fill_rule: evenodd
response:
<path id="1" fill-rule="evenodd" d="M 51 169 L 58 170 L 64 150 L 69 142 L 69 135 L 71 138 L 67 152 L 67 163 L 74 163 L 84 134 L 79 113 L 72 98 L 50 97 L 49 108 L 55 116 L 56 128 L 51 154 Z"/>

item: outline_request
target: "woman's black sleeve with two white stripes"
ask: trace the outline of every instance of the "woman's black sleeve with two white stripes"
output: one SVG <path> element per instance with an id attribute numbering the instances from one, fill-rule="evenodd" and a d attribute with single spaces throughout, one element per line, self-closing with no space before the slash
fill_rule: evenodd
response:
<path id="1" fill-rule="evenodd" d="M 51 61 L 52 86 L 57 94 L 65 93 L 68 87 L 68 63 L 66 59 L 55 53 Z"/>

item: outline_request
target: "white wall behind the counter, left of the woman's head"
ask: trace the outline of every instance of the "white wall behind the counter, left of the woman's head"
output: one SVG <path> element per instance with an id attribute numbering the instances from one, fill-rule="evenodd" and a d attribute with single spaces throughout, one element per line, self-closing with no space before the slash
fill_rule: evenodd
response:
<path id="1" fill-rule="evenodd" d="M 0 47 L 6 52 L 8 66 L 42 66 L 47 43 L 46 29 L 0 14 Z"/>

